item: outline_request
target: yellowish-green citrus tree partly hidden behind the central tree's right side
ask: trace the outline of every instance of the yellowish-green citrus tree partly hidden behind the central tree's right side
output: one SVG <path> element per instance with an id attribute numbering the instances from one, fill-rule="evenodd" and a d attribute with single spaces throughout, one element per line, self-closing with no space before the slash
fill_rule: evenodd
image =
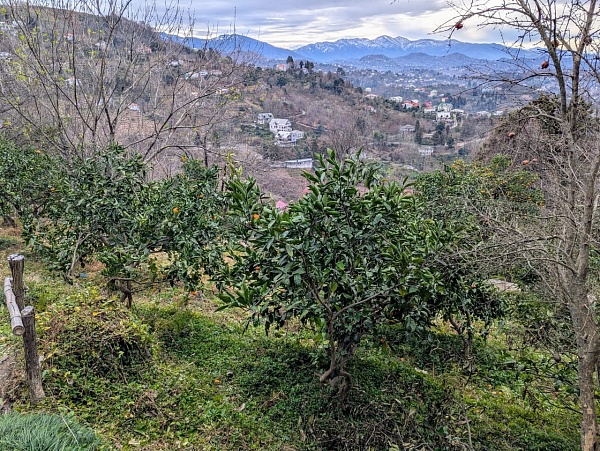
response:
<path id="1" fill-rule="evenodd" d="M 521 163 L 496 155 L 488 162 L 458 160 L 443 170 L 421 174 L 414 189 L 425 217 L 464 232 L 461 247 L 447 255 L 444 263 L 444 277 L 454 279 L 453 284 L 464 290 L 452 292 L 451 299 L 444 299 L 438 308 L 465 340 L 468 357 L 475 332 L 473 319 L 488 325 L 504 313 L 487 280 L 519 266 L 515 258 L 498 259 L 501 222 L 507 216 L 535 214 L 544 204 L 539 177 Z"/>

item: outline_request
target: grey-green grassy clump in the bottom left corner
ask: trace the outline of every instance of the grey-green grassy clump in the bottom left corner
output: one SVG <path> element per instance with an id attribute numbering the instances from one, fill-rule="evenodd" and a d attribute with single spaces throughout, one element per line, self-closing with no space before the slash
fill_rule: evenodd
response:
<path id="1" fill-rule="evenodd" d="M 101 440 L 85 426 L 61 415 L 0 415 L 0 451 L 91 451 Z"/>

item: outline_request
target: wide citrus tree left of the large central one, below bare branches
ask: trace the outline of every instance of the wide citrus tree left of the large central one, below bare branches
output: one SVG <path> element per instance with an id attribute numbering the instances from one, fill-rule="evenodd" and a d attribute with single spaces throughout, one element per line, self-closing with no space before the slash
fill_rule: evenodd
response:
<path id="1" fill-rule="evenodd" d="M 142 157 L 123 148 L 82 159 L 49 188 L 47 211 L 26 238 L 69 280 L 99 261 L 128 305 L 135 284 L 182 281 L 195 290 L 221 256 L 216 238 L 225 204 L 216 168 L 196 160 L 183 168 L 147 181 Z"/>

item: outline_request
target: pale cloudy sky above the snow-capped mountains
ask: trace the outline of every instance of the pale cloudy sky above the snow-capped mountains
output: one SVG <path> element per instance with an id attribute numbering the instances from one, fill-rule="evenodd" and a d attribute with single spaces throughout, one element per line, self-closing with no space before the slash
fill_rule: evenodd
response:
<path id="1" fill-rule="evenodd" d="M 198 36 L 235 31 L 269 44 L 296 48 L 342 38 L 381 35 L 444 39 L 431 34 L 454 17 L 446 0 L 192 0 Z M 493 30 L 465 26 L 453 36 L 469 42 L 500 42 Z"/>

